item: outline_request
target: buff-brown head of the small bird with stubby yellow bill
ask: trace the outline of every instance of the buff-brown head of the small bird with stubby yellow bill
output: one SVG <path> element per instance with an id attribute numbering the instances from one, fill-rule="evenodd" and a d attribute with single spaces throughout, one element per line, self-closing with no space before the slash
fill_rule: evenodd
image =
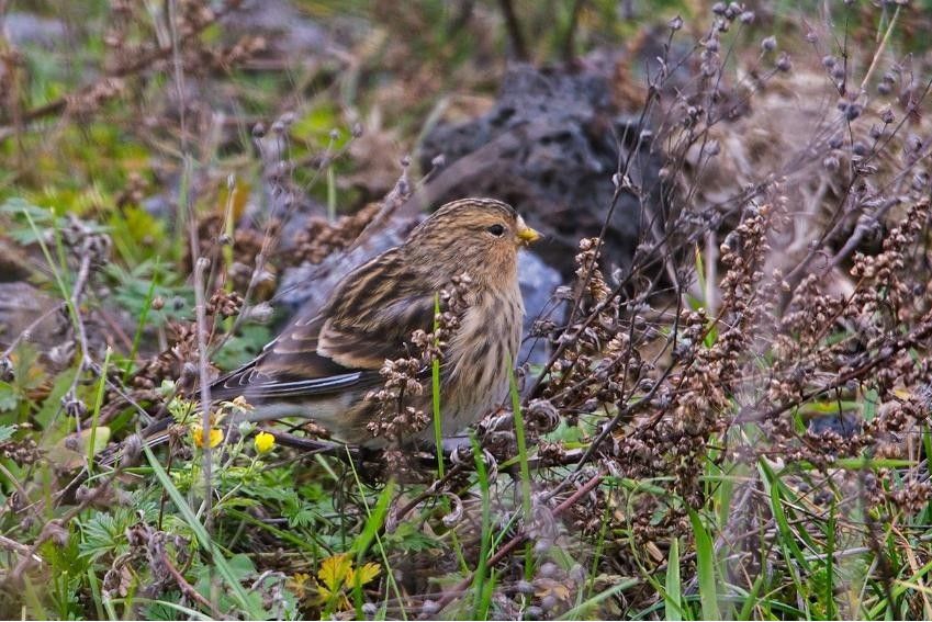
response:
<path id="1" fill-rule="evenodd" d="M 405 246 L 434 265 L 476 282 L 514 278 L 518 249 L 540 239 L 515 208 L 494 199 L 447 203 L 412 231 Z M 442 275 L 448 278 L 449 275 Z"/>

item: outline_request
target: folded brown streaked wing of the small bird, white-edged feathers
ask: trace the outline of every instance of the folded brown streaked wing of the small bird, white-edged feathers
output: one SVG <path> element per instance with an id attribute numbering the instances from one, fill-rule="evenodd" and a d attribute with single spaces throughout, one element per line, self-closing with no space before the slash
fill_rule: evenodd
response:
<path id="1" fill-rule="evenodd" d="M 435 294 L 395 250 L 351 272 L 324 309 L 297 318 L 251 362 L 217 378 L 211 395 L 295 398 L 381 384 L 386 359 L 408 354 L 434 325 Z"/>

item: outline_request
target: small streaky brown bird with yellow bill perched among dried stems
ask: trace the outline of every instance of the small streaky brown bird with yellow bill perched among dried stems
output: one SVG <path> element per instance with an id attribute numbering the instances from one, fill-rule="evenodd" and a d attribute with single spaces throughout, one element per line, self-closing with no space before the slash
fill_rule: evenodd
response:
<path id="1" fill-rule="evenodd" d="M 303 417 L 341 441 L 383 445 L 367 427 L 378 404 L 366 396 L 384 382 L 386 360 L 408 355 L 415 330 L 433 330 L 438 292 L 467 273 L 467 308 L 441 361 L 442 430 L 456 433 L 508 394 L 524 316 L 517 253 L 539 237 L 501 201 L 448 203 L 404 244 L 350 272 L 319 313 L 294 319 L 255 360 L 215 381 L 211 397 L 244 396 L 252 421 Z M 430 399 L 428 388 L 409 404 L 429 414 Z M 418 439 L 433 433 L 428 426 Z"/>

